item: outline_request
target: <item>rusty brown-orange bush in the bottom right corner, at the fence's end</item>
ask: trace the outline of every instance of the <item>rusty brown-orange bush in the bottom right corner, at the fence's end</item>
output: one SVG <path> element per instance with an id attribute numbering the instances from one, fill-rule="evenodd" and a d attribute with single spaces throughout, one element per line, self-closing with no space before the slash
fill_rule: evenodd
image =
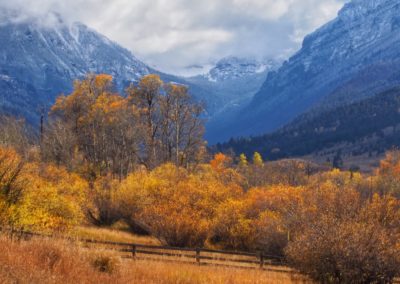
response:
<path id="1" fill-rule="evenodd" d="M 400 272 L 399 201 L 375 195 L 362 204 L 351 189 L 333 192 L 309 204 L 314 216 L 286 248 L 290 263 L 323 283 L 391 283 Z"/>

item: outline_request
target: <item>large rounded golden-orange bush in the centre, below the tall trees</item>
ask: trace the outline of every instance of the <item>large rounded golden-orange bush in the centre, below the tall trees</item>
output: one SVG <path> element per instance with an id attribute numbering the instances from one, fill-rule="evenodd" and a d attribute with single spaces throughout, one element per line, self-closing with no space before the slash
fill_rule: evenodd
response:
<path id="1" fill-rule="evenodd" d="M 124 216 L 144 222 L 168 244 L 202 246 L 219 204 L 240 192 L 237 186 L 225 184 L 210 166 L 189 173 L 164 164 L 151 172 L 132 173 L 117 195 Z"/>

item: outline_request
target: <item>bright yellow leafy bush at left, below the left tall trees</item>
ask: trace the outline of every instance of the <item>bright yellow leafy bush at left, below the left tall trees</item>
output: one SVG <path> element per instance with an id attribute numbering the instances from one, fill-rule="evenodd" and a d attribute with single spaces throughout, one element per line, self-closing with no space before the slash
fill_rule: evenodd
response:
<path id="1" fill-rule="evenodd" d="M 29 165 L 18 226 L 37 230 L 67 229 L 81 222 L 88 184 L 75 174 L 52 165 Z"/>

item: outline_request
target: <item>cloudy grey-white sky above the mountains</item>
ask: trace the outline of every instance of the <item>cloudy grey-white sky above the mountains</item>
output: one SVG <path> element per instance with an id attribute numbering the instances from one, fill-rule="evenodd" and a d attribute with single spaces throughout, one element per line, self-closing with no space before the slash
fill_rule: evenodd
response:
<path id="1" fill-rule="evenodd" d="M 0 0 L 0 7 L 81 21 L 162 71 L 229 56 L 286 58 L 346 0 Z"/>

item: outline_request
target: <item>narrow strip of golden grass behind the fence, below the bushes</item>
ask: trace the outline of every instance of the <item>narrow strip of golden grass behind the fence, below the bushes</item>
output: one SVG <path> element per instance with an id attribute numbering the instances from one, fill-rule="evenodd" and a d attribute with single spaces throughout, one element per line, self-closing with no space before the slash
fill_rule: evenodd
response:
<path id="1" fill-rule="evenodd" d="M 160 242 L 151 236 L 137 236 L 120 228 L 77 227 L 70 237 L 78 239 L 91 239 L 97 241 L 135 243 L 143 245 L 160 245 Z"/>

